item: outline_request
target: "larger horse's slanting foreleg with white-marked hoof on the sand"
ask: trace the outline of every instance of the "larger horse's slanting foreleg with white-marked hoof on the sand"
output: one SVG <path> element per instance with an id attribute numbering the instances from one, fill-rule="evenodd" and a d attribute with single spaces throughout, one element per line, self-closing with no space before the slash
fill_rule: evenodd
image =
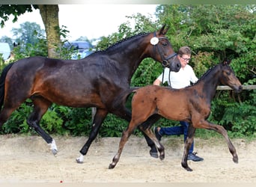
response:
<path id="1" fill-rule="evenodd" d="M 96 114 L 94 115 L 93 125 L 91 127 L 91 132 L 90 132 L 88 141 L 86 141 L 85 145 L 80 150 L 81 155 L 78 158 L 76 158 L 77 163 L 84 162 L 84 156 L 88 152 L 89 147 L 91 146 L 91 143 L 97 137 L 97 134 L 99 133 L 99 130 L 100 130 L 100 126 L 102 125 L 103 120 L 105 120 L 107 114 L 108 114 L 108 111 L 106 111 L 105 109 L 97 108 Z"/>

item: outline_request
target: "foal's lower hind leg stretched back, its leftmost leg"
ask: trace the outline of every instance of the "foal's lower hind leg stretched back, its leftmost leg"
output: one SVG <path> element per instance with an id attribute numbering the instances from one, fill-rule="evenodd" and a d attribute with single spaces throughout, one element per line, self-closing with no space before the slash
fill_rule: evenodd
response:
<path id="1" fill-rule="evenodd" d="M 109 169 L 115 168 L 115 165 L 117 165 L 120 159 L 122 150 L 124 149 L 124 144 L 128 141 L 128 138 L 132 134 L 134 129 L 135 129 L 135 125 L 133 123 L 129 123 L 129 126 L 122 134 L 122 137 L 119 143 L 118 153 L 115 154 L 114 158 L 112 159 L 112 163 L 109 164 Z"/>

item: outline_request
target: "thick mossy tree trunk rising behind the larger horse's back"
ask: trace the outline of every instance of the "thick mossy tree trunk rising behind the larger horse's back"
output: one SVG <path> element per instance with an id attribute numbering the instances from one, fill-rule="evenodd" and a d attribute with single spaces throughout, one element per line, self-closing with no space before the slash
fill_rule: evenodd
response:
<path id="1" fill-rule="evenodd" d="M 48 57 L 59 58 L 56 49 L 61 45 L 60 27 L 58 22 L 58 4 L 38 4 L 40 15 L 46 29 L 48 43 Z"/>

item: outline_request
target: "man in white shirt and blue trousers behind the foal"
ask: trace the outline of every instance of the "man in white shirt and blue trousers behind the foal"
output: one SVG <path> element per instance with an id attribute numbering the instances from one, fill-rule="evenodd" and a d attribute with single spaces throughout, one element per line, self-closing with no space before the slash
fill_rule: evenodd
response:
<path id="1" fill-rule="evenodd" d="M 183 46 L 179 49 L 177 53 L 177 58 L 180 60 L 181 68 L 180 71 L 170 72 L 169 69 L 165 68 L 164 77 L 162 79 L 162 74 L 153 82 L 153 85 L 160 85 L 163 82 L 168 82 L 168 85 L 171 88 L 185 88 L 192 83 L 198 81 L 198 78 L 195 76 L 194 70 L 189 66 L 189 60 L 191 58 L 191 50 L 188 46 Z M 170 77 L 169 77 L 170 76 Z M 186 121 L 180 121 L 180 126 L 171 126 L 171 127 L 155 127 L 154 133 L 156 134 L 156 138 L 160 141 L 162 135 L 184 135 L 184 141 L 186 140 L 189 129 L 189 123 Z M 193 153 L 194 150 L 194 142 L 189 149 L 188 160 L 192 160 L 195 162 L 203 161 L 204 159 L 196 156 L 196 153 Z M 150 154 L 153 150 L 150 150 Z M 154 150 L 156 151 L 156 150 Z"/>

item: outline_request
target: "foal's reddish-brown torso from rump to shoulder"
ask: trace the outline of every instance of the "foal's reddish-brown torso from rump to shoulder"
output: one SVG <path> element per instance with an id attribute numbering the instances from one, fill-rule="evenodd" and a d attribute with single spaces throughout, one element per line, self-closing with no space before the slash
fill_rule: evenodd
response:
<path id="1" fill-rule="evenodd" d="M 170 120 L 189 120 L 191 112 L 201 111 L 201 89 L 193 86 L 182 89 L 148 85 L 139 88 L 132 97 L 132 120 L 141 123 L 152 114 Z"/>

